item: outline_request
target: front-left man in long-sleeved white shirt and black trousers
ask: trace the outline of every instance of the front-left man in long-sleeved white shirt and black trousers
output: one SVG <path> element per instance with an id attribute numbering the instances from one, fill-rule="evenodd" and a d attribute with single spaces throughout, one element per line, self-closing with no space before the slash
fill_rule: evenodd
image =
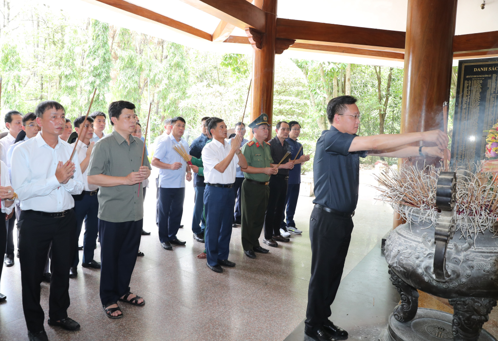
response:
<path id="1" fill-rule="evenodd" d="M 21 201 L 19 246 L 22 308 L 29 340 L 48 340 L 43 327 L 40 282 L 50 243 L 52 278 L 48 324 L 67 330 L 80 325 L 67 316 L 69 268 L 75 249 L 76 215 L 71 194 L 83 190 L 78 155 L 59 135 L 65 126 L 64 107 L 44 101 L 35 110 L 41 132 L 12 153 L 12 187 Z"/>

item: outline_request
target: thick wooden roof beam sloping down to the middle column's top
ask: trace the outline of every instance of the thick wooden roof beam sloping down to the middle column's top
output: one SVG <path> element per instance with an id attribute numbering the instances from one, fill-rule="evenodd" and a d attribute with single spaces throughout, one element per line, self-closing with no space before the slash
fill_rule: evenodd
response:
<path id="1" fill-rule="evenodd" d="M 234 26 L 265 31 L 265 14 L 247 0 L 181 0 Z"/>

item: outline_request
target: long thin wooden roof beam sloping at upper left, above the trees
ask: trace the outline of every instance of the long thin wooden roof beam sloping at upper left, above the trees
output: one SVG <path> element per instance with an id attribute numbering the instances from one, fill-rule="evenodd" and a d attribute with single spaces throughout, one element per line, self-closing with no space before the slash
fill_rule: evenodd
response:
<path id="1" fill-rule="evenodd" d="M 127 16 L 135 17 L 140 20 L 145 19 L 146 21 L 154 21 L 166 25 L 175 30 L 195 35 L 196 37 L 199 38 L 203 38 L 209 41 L 212 40 L 211 34 L 204 32 L 203 30 L 192 27 L 183 22 L 168 18 L 167 16 L 158 14 L 149 9 L 134 5 L 132 3 L 123 0 L 86 0 L 86 1 L 94 3 L 100 7 L 109 8 L 108 6 L 112 6 L 114 7 L 113 10 L 116 10 L 116 8 L 118 8 L 119 10 L 126 12 L 125 14 Z"/>

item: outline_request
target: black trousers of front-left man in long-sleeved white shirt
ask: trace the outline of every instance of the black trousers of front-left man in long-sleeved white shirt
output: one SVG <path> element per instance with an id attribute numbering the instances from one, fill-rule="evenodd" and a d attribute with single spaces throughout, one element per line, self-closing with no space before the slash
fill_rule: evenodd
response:
<path id="1" fill-rule="evenodd" d="M 31 333 L 43 329 L 45 319 L 40 305 L 40 283 L 52 243 L 50 268 L 50 296 L 48 317 L 58 321 L 67 317 L 69 300 L 69 268 L 75 252 L 76 215 L 70 210 L 64 217 L 54 218 L 22 211 L 17 222 L 20 227 L 19 254 L 21 264 L 22 309 L 26 327 Z"/>

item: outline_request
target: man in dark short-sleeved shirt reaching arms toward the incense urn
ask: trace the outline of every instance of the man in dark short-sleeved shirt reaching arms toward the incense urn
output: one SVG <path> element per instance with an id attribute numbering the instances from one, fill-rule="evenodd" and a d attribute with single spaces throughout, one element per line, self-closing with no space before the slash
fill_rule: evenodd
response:
<path id="1" fill-rule="evenodd" d="M 331 127 L 322 132 L 316 143 L 315 207 L 310 217 L 311 278 L 304 333 L 318 341 L 348 335 L 329 317 L 351 241 L 352 216 L 358 202 L 360 157 L 428 155 L 442 158 L 448 147 L 448 136 L 440 130 L 359 137 L 356 133 L 360 111 L 356 101 L 353 96 L 340 96 L 329 102 L 327 118 Z M 437 147 L 407 146 L 419 141 Z"/>

